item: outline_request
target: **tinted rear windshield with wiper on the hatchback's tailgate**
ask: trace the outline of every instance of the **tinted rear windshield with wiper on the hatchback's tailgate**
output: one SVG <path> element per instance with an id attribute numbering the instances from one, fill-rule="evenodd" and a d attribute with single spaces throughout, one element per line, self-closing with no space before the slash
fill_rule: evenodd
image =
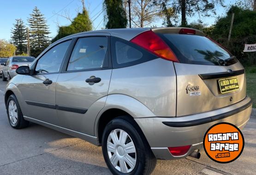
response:
<path id="1" fill-rule="evenodd" d="M 237 62 L 230 53 L 204 36 L 188 34 L 158 34 L 173 50 L 181 63 L 228 66 Z"/>

